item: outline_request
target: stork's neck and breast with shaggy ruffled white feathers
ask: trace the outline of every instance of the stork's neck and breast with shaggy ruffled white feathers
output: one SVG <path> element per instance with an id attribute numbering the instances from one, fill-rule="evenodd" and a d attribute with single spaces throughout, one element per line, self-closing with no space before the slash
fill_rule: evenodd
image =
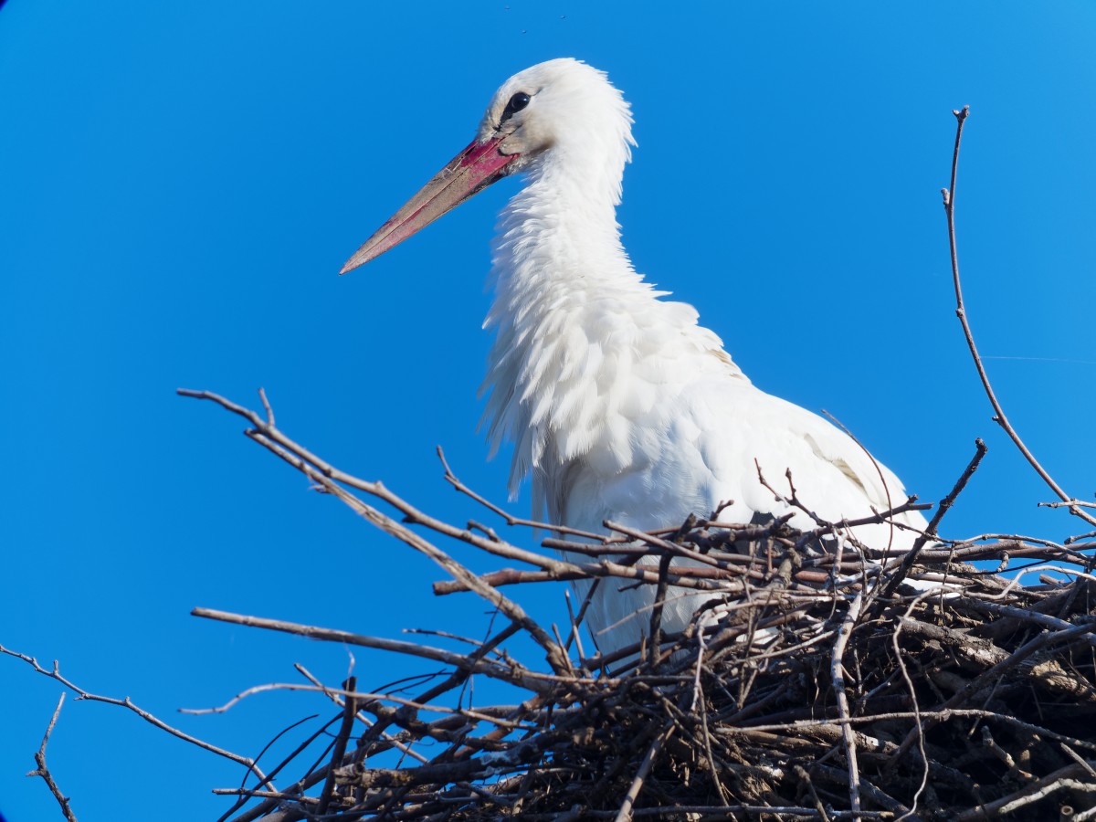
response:
<path id="1" fill-rule="evenodd" d="M 580 459 L 628 470 L 636 414 L 661 424 L 687 375 L 741 374 L 690 306 L 660 300 L 632 269 L 618 194 L 619 176 L 561 162 L 535 169 L 502 214 L 484 420 L 492 449 L 515 442 L 512 492 L 533 469 L 543 479 Z"/>

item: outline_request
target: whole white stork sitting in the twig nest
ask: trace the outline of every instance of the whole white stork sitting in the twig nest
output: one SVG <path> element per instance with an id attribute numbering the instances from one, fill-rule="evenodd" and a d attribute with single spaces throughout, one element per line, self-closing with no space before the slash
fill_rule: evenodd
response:
<path id="1" fill-rule="evenodd" d="M 674 526 L 728 500 L 728 522 L 786 513 L 754 460 L 774 484 L 790 469 L 799 496 L 829 521 L 903 502 L 893 473 L 825 420 L 755 388 L 692 306 L 663 299 L 636 273 L 616 222 L 633 145 L 628 104 L 603 72 L 573 59 L 533 66 L 503 83 L 472 144 L 343 271 L 524 172 L 494 242 L 484 326 L 496 339 L 483 387 L 492 453 L 513 441 L 511 492 L 532 475 L 535 516 L 601 532 L 605 520 Z M 898 520 L 926 524 L 915 512 Z M 802 513 L 790 522 L 813 527 Z M 895 551 L 916 536 L 890 525 L 855 535 Z M 587 621 L 608 653 L 646 632 L 654 591 L 606 583 Z M 671 589 L 665 629 L 683 629 L 698 597 L 708 598 Z"/>

